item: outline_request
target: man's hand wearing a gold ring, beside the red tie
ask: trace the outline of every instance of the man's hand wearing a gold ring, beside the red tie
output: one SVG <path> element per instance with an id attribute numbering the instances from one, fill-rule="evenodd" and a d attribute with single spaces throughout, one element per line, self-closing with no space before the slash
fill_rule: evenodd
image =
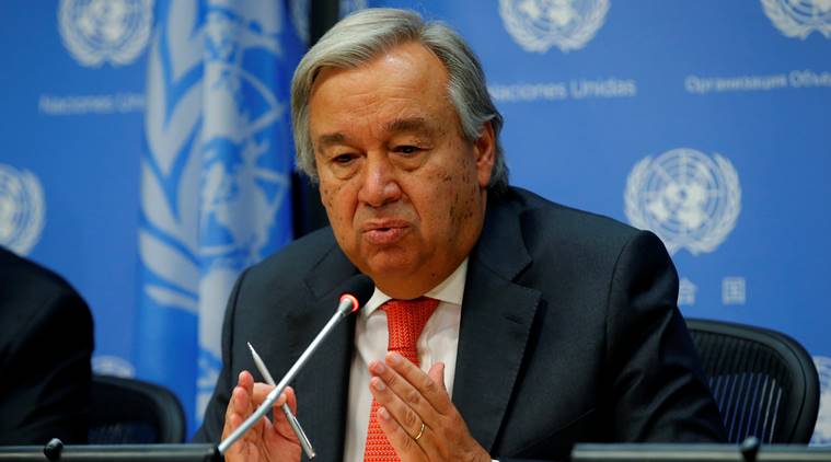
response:
<path id="1" fill-rule="evenodd" d="M 450 401 L 442 362 L 424 373 L 390 353 L 384 362 L 371 361 L 369 372 L 369 389 L 380 405 L 378 423 L 402 462 L 490 462 Z"/>

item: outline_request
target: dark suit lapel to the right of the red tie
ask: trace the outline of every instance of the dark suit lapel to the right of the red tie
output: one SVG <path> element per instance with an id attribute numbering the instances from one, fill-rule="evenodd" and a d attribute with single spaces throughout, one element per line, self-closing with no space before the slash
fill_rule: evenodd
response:
<path id="1" fill-rule="evenodd" d="M 490 451 L 513 391 L 541 293 L 512 282 L 531 263 L 517 212 L 488 204 L 462 301 L 453 402 Z"/>

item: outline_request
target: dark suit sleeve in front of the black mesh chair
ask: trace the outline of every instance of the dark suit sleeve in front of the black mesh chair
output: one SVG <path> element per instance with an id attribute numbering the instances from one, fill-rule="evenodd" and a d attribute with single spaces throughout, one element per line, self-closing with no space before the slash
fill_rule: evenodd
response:
<path id="1" fill-rule="evenodd" d="M 613 441 L 725 440 L 677 300 L 678 274 L 663 244 L 650 232 L 636 234 L 619 256 L 609 291 Z"/>

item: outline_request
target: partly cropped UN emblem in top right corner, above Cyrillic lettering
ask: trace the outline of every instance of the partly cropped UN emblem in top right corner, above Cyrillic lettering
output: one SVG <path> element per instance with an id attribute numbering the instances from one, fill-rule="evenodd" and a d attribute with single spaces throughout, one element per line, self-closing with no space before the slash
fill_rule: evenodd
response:
<path id="1" fill-rule="evenodd" d="M 764 14 L 788 37 L 817 31 L 831 38 L 831 0 L 762 0 Z"/>

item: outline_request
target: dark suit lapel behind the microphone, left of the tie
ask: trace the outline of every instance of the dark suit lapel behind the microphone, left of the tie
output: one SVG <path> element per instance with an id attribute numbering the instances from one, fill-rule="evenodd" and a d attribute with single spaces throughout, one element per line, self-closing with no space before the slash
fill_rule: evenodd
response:
<path id="1" fill-rule="evenodd" d="M 289 311 L 286 320 L 292 326 L 289 333 L 292 362 L 335 313 L 341 285 L 355 273 L 355 267 L 336 247 L 310 273 L 309 303 Z M 315 461 L 343 460 L 354 336 L 355 316 L 349 316 L 320 345 L 292 384 L 298 391 L 298 419 L 319 452 Z"/>

